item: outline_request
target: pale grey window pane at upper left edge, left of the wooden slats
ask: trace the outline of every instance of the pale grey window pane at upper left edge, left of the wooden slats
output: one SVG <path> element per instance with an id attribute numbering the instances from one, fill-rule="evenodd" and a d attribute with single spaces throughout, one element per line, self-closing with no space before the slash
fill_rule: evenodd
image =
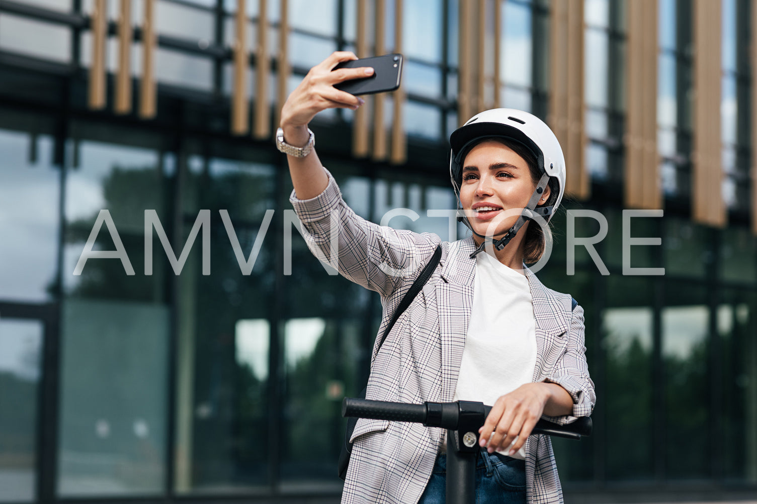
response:
<path id="1" fill-rule="evenodd" d="M 65 63 L 71 59 L 71 32 L 67 26 L 0 14 L 0 49 Z"/>

